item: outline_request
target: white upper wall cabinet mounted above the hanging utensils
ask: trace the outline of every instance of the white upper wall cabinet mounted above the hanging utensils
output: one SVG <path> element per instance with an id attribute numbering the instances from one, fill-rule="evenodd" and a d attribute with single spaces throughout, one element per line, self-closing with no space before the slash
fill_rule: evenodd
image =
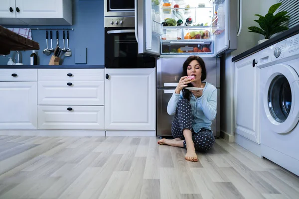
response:
<path id="1" fill-rule="evenodd" d="M 4 0 L 2 25 L 72 25 L 71 0 Z"/>

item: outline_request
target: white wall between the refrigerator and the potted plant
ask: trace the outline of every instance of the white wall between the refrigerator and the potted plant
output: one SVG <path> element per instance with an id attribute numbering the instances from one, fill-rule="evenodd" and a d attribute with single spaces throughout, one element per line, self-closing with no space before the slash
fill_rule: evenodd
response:
<path id="1" fill-rule="evenodd" d="M 254 21 L 258 16 L 265 15 L 269 7 L 277 3 L 277 0 L 243 0 L 243 28 L 238 37 L 238 49 L 225 56 L 225 66 L 221 68 L 221 123 L 220 129 L 228 135 L 234 134 L 233 129 L 233 99 L 234 99 L 234 63 L 232 57 L 256 46 L 258 40 L 264 39 L 260 34 L 248 32 L 248 27 L 259 24 Z"/>

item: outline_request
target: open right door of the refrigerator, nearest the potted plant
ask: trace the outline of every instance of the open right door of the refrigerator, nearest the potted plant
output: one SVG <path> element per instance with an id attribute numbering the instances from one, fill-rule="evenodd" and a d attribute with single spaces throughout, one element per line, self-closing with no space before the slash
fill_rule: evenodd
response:
<path id="1" fill-rule="evenodd" d="M 217 1 L 221 3 L 216 3 Z M 238 0 L 215 0 L 215 11 L 218 10 L 220 6 L 223 6 L 225 17 L 221 20 L 218 17 L 218 22 L 224 22 L 224 31 L 222 26 L 218 24 L 219 34 L 216 37 L 216 55 L 219 56 L 223 53 L 232 52 L 237 49 L 237 10 L 238 10 Z M 223 31 L 223 32 L 221 32 Z M 221 33 L 220 33 L 221 32 Z"/>

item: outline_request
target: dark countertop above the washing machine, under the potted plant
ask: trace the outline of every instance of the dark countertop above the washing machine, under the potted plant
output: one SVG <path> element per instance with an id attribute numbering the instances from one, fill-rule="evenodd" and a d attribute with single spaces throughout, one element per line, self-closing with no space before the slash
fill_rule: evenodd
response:
<path id="1" fill-rule="evenodd" d="M 291 36 L 296 35 L 298 33 L 299 33 L 299 25 L 296 25 L 296 26 L 290 28 L 289 30 L 286 30 L 286 31 L 280 33 L 279 35 L 276 35 L 275 37 L 270 38 L 269 40 L 261 43 L 260 45 L 257 45 L 255 47 L 253 47 L 253 48 L 251 48 L 251 49 L 249 49 L 249 50 L 233 57 L 232 62 L 236 62 L 240 59 L 243 59 L 243 58 L 245 58 L 245 57 L 247 57 L 251 54 L 254 54 L 254 53 L 256 53 L 260 50 L 263 50 L 264 48 L 267 48 L 267 47 L 269 47 L 269 46 L 271 46 L 271 45 L 273 45 L 277 42 L 285 40 L 288 37 L 291 37 Z"/>

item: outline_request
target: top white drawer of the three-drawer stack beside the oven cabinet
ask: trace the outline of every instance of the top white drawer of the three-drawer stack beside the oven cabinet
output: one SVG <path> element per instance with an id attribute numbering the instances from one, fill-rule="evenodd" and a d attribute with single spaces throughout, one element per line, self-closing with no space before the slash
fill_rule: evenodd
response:
<path id="1" fill-rule="evenodd" d="M 104 81 L 104 69 L 38 69 L 39 81 Z"/>

